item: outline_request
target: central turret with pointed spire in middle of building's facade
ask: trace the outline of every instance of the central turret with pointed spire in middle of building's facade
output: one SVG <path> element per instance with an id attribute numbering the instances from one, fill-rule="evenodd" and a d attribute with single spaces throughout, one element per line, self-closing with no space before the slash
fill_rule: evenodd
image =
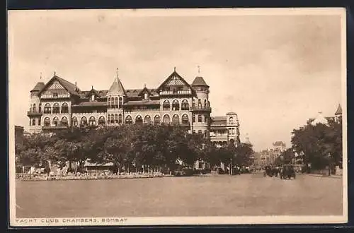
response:
<path id="1" fill-rule="evenodd" d="M 110 89 L 107 92 L 107 124 L 122 124 L 124 119 L 123 104 L 127 101 L 127 93 L 119 78 L 118 68 Z"/>

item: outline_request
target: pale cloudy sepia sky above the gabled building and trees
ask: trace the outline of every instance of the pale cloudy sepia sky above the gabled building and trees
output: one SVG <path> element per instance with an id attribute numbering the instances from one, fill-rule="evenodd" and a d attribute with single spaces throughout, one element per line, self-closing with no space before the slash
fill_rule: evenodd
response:
<path id="1" fill-rule="evenodd" d="M 54 72 L 81 90 L 108 90 L 116 68 L 133 89 L 157 88 L 175 66 L 192 83 L 200 66 L 212 116 L 236 112 L 254 150 L 290 146 L 292 129 L 343 103 L 338 14 L 149 12 L 9 11 L 13 124 L 28 129 L 30 90 Z"/>

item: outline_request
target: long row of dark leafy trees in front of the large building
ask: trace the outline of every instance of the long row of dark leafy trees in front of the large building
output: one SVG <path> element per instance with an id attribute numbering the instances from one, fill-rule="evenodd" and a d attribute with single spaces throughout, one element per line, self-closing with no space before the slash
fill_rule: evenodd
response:
<path id="1" fill-rule="evenodd" d="M 196 160 L 249 165 L 253 153 L 249 144 L 237 148 L 215 148 L 201 134 L 187 133 L 180 126 L 122 125 L 116 127 L 82 127 L 59 131 L 53 136 L 33 134 L 16 143 L 16 165 L 43 167 L 47 161 L 64 164 L 69 161 L 84 167 L 86 160 L 105 164 L 112 162 L 120 169 L 174 169 L 176 160 L 193 166 Z M 70 169 L 70 168 L 69 168 Z"/>

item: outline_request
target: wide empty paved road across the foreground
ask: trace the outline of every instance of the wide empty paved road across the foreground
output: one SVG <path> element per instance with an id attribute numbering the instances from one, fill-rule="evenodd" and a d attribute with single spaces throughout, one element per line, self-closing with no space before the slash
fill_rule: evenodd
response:
<path id="1" fill-rule="evenodd" d="M 263 174 L 17 181 L 17 217 L 342 215 L 342 179 Z"/>

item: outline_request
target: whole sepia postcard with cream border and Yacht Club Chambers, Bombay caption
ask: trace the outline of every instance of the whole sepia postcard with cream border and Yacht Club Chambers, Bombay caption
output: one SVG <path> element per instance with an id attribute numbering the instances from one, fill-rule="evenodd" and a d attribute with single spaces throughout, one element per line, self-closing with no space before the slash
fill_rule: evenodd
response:
<path id="1" fill-rule="evenodd" d="M 348 221 L 346 10 L 8 11 L 11 227 Z"/>

